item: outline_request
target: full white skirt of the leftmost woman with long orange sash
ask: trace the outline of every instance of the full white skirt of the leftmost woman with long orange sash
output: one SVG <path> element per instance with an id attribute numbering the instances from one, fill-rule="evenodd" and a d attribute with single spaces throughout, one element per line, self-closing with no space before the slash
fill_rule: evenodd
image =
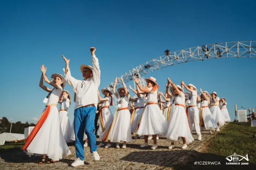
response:
<path id="1" fill-rule="evenodd" d="M 46 154 L 50 159 L 56 161 L 62 159 L 62 156 L 71 154 L 60 128 L 57 107 L 52 106 L 50 108 L 48 117 L 25 152 L 29 156 Z"/>

